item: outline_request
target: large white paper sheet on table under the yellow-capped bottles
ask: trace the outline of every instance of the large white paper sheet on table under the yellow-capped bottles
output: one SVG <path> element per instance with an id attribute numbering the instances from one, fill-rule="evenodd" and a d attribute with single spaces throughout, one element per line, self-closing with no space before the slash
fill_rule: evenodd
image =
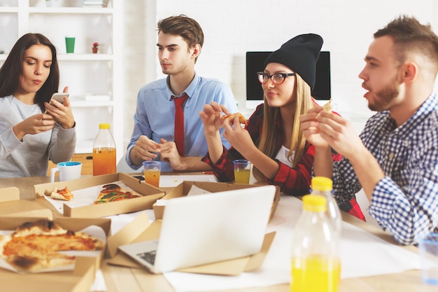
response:
<path id="1" fill-rule="evenodd" d="M 276 237 L 260 270 L 236 277 L 222 277 L 183 272 L 164 274 L 176 292 L 215 291 L 255 286 L 271 286 L 290 282 L 290 258 L 293 228 L 302 211 L 302 202 L 295 197 L 281 196 L 276 214 L 267 232 Z M 341 239 L 341 278 L 367 277 L 419 269 L 416 253 L 343 222 Z"/>

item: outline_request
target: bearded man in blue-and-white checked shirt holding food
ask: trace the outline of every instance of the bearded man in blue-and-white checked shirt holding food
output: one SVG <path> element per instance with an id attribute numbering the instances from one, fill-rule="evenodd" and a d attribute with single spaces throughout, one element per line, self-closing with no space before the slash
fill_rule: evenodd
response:
<path id="1" fill-rule="evenodd" d="M 369 214 L 400 244 L 438 231 L 438 36 L 400 16 L 374 34 L 360 72 L 368 107 L 377 111 L 360 137 L 321 107 L 301 116 L 316 146 L 313 171 L 332 177 L 339 204 L 360 188 Z M 321 114 L 317 117 L 317 114 Z M 330 146 L 343 155 L 332 162 Z"/>

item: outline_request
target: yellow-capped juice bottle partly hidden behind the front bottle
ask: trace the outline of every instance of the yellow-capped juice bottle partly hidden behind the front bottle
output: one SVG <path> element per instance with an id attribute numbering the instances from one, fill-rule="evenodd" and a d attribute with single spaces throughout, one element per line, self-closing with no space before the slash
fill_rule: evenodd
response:
<path id="1" fill-rule="evenodd" d="M 327 200 L 327 217 L 338 237 L 341 237 L 342 216 L 339 206 L 332 195 L 333 182 L 324 176 L 315 176 L 311 183 L 312 195 L 323 195 Z"/>

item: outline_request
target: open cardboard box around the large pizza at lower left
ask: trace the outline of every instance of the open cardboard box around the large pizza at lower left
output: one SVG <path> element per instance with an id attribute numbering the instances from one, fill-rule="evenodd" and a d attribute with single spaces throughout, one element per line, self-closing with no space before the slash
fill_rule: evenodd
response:
<path id="1" fill-rule="evenodd" d="M 1 217 L 0 230 L 15 230 L 25 222 L 41 219 L 21 217 Z M 79 231 L 95 225 L 101 228 L 108 236 L 111 230 L 111 220 L 107 218 L 55 218 L 53 220 L 62 228 Z M 73 270 L 59 272 L 42 272 L 34 274 L 20 274 L 10 270 L 0 269 L 1 291 L 76 291 L 87 292 L 94 282 L 94 277 L 100 267 L 104 251 L 97 257 L 76 256 Z"/>

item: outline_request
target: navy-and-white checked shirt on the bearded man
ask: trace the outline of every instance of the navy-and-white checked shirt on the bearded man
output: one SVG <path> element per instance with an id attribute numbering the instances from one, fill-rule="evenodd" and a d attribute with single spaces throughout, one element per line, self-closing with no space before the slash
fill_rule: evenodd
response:
<path id="1" fill-rule="evenodd" d="M 369 214 L 400 244 L 416 244 L 438 231 L 438 97 L 432 94 L 406 123 L 397 127 L 388 111 L 369 118 L 363 144 L 385 173 L 372 193 Z M 362 188 L 350 162 L 334 162 L 339 204 Z"/>

